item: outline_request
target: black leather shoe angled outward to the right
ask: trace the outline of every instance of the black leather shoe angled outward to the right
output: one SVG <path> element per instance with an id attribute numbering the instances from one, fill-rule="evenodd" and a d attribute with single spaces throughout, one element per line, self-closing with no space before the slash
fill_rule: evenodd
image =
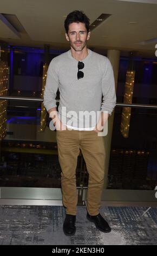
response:
<path id="1" fill-rule="evenodd" d="M 99 229 L 101 232 L 109 233 L 111 231 L 109 224 L 107 221 L 104 220 L 104 218 L 98 214 L 95 216 L 91 216 L 87 212 L 87 220 L 94 222 L 97 229 Z"/>

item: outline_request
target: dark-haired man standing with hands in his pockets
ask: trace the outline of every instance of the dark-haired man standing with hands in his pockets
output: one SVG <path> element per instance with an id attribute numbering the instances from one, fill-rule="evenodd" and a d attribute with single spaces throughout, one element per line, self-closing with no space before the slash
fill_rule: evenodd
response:
<path id="1" fill-rule="evenodd" d="M 70 50 L 57 56 L 48 68 L 44 90 L 44 106 L 56 127 L 58 159 L 62 173 L 63 205 L 66 219 L 63 231 L 76 231 L 76 165 L 80 149 L 89 173 L 87 219 L 102 232 L 111 229 L 99 213 L 104 181 L 104 137 L 98 136 L 115 107 L 116 95 L 112 65 L 107 57 L 87 48 L 90 38 L 89 19 L 82 11 L 73 11 L 65 22 L 66 39 Z M 60 104 L 56 111 L 56 92 L 60 90 Z M 102 101 L 103 95 L 103 101 Z M 82 111 L 101 112 L 99 118 L 88 120 Z M 71 112 L 73 115 L 71 122 Z M 108 113 L 107 117 L 104 113 Z"/>

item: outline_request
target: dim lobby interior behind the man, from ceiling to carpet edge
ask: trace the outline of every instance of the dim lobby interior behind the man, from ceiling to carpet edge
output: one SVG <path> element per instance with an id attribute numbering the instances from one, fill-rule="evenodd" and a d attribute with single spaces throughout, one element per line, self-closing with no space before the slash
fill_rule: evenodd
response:
<path id="1" fill-rule="evenodd" d="M 62 205 L 56 131 L 43 91 L 51 59 L 69 50 L 64 20 L 73 10 L 89 17 L 88 48 L 110 59 L 115 76 L 102 205 L 156 206 L 157 1 L 112 0 L 1 1 L 0 204 Z M 85 205 L 81 151 L 76 176 L 78 205 Z"/>

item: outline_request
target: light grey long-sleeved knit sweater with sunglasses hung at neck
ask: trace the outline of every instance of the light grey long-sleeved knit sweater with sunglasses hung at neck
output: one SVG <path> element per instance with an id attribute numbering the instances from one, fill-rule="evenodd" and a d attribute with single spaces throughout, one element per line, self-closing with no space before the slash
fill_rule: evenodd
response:
<path id="1" fill-rule="evenodd" d="M 90 124 L 86 125 L 80 113 L 112 113 L 116 104 L 114 75 L 109 59 L 91 50 L 82 62 L 84 68 L 81 71 L 84 77 L 78 80 L 78 61 L 71 56 L 70 50 L 51 60 L 44 90 L 44 106 L 47 111 L 56 107 L 55 98 L 59 89 L 58 113 L 62 123 L 75 127 L 91 127 L 95 126 L 96 122 L 90 121 Z M 68 123 L 71 118 L 74 122 Z"/>

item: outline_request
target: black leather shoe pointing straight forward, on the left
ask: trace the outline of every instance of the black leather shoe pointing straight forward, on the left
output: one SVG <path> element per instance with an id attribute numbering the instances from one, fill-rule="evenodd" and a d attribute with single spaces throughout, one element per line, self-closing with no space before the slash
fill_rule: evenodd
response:
<path id="1" fill-rule="evenodd" d="M 76 232 L 75 221 L 76 221 L 75 215 L 70 215 L 70 214 L 66 215 L 66 219 L 63 224 L 63 231 L 65 235 L 70 236 L 75 234 Z"/>

